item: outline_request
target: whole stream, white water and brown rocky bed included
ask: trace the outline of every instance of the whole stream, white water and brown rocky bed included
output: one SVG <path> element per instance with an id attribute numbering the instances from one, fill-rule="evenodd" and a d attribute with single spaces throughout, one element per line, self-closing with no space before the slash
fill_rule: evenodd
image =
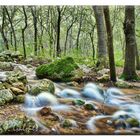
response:
<path id="1" fill-rule="evenodd" d="M 24 72 L 28 85 L 39 81 L 34 67 L 12 65 Z M 1 71 L 0 80 L 5 78 Z M 103 89 L 91 82 L 81 88 L 54 85 L 54 95 L 26 93 L 24 103 L 16 105 L 39 125 L 39 134 L 140 134 L 140 103 L 133 99 L 133 94 L 115 87 Z"/>

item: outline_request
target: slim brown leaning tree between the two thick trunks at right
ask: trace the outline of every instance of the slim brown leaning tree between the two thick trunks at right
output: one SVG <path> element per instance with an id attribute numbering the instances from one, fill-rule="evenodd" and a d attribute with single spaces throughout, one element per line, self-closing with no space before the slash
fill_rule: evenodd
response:
<path id="1" fill-rule="evenodd" d="M 112 26 L 110 21 L 110 12 L 109 7 L 104 7 L 104 16 L 107 30 L 107 47 L 108 47 L 108 56 L 109 56 L 109 67 L 110 67 L 110 80 L 116 82 L 116 69 L 115 69 L 115 60 L 114 60 L 114 48 L 113 48 L 113 33 Z"/>

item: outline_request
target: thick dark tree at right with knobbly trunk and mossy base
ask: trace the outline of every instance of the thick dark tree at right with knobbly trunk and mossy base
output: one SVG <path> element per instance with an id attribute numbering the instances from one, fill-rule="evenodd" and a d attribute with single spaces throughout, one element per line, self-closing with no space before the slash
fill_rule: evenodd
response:
<path id="1" fill-rule="evenodd" d="M 125 63 L 122 76 L 125 80 L 133 80 L 137 78 L 135 68 L 136 37 L 134 6 L 125 6 L 124 34 L 126 45 Z"/>

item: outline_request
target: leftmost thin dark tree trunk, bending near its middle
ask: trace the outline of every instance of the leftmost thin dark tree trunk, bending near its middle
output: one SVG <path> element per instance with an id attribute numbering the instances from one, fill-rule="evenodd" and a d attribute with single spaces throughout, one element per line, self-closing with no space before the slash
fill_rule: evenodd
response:
<path id="1" fill-rule="evenodd" d="M 2 7 L 2 26 L 0 27 L 0 31 L 1 31 L 1 35 L 2 35 L 2 39 L 3 39 L 3 42 L 4 42 L 4 46 L 7 50 L 9 50 L 9 44 L 8 44 L 8 39 L 5 35 L 5 32 L 4 32 L 4 28 L 5 28 L 5 10 L 4 8 Z"/>

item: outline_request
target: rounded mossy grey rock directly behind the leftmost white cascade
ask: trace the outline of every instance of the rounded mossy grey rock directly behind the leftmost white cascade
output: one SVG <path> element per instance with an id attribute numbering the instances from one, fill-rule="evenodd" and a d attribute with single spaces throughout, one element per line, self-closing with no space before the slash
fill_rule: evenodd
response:
<path id="1" fill-rule="evenodd" d="M 39 93 L 47 91 L 52 94 L 55 92 L 54 83 L 48 79 L 43 79 L 39 83 L 33 85 L 29 90 L 29 94 L 31 95 L 38 95 Z"/>

